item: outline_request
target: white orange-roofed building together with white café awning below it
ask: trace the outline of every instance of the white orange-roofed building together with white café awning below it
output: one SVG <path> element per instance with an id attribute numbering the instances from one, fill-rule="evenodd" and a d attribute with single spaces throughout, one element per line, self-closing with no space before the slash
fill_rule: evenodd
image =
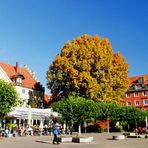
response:
<path id="1" fill-rule="evenodd" d="M 21 107 L 14 107 L 8 114 L 11 123 L 17 124 L 40 124 L 46 121 L 49 123 L 51 116 L 58 114 L 52 109 L 43 109 L 44 87 L 35 78 L 35 73 L 31 72 L 27 66 L 19 67 L 0 63 L 0 79 L 8 83 L 13 83 L 22 100 Z M 31 107 L 31 108 L 30 108 Z M 0 119 L 0 126 L 7 124 L 5 119 Z"/>

